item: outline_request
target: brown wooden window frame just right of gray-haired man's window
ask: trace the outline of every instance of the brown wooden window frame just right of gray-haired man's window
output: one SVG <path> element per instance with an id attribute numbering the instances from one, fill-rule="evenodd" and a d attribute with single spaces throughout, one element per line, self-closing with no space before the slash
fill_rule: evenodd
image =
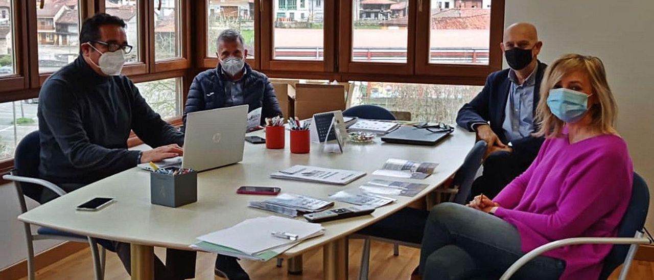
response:
<path id="1" fill-rule="evenodd" d="M 261 69 L 278 71 L 282 75 L 302 73 L 326 74 L 336 69 L 336 9 L 337 1 L 324 4 L 323 16 L 323 60 L 276 60 L 273 56 L 274 46 L 274 5 L 272 1 L 264 1 L 261 7 Z"/>

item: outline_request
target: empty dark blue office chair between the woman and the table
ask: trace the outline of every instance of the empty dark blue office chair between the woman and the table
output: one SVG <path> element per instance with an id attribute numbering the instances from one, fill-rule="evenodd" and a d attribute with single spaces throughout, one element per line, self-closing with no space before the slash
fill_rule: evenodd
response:
<path id="1" fill-rule="evenodd" d="M 456 171 L 451 187 L 443 190 L 439 189 L 437 192 L 449 194 L 448 201 L 465 204 L 470 195 L 472 182 L 475 180 L 475 175 L 477 175 L 477 169 L 481 166 L 486 146 L 485 141 L 477 141 L 468 152 L 461 167 Z M 364 239 L 359 279 L 368 279 L 370 239 L 394 243 L 393 254 L 395 256 L 400 254 L 399 245 L 420 248 L 424 224 L 428 216 L 429 211 L 427 210 L 407 207 L 356 232 L 352 238 Z"/>

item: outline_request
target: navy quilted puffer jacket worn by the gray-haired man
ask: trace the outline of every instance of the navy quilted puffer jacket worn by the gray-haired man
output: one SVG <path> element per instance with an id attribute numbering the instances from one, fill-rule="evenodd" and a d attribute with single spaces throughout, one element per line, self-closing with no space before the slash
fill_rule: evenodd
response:
<path id="1" fill-rule="evenodd" d="M 275 96 L 273 84 L 269 82 L 264 73 L 252 70 L 245 63 L 246 73 L 241 77 L 243 82 L 243 104 L 250 105 L 249 111 L 262 107 L 261 120 L 282 116 L 279 101 Z M 223 80 L 228 77 L 222 74 L 220 64 L 218 67 L 199 73 L 188 90 L 188 99 L 184 107 L 184 126 L 186 128 L 186 114 L 197 111 L 211 110 L 225 107 L 225 88 Z M 213 94 L 212 94 L 213 93 Z"/>

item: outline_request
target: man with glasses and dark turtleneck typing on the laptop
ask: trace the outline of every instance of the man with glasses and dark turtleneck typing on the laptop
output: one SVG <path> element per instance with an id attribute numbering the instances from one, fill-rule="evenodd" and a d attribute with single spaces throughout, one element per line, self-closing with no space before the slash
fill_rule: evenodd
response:
<path id="1" fill-rule="evenodd" d="M 39 93 L 39 176 L 72 192 L 137 164 L 180 156 L 184 135 L 164 122 L 128 77 L 120 75 L 131 51 L 125 22 L 109 14 L 84 21 L 80 56 L 46 80 Z M 134 131 L 150 147 L 128 150 Z M 56 198 L 51 192 L 41 203 Z M 130 245 L 99 240 L 130 271 Z M 156 279 L 194 277 L 196 254 L 168 250 L 166 265 L 154 263 Z"/>

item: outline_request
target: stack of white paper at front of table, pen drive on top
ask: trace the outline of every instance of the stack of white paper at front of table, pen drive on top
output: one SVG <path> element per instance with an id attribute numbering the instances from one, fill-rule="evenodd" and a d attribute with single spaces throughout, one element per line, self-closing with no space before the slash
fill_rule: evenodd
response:
<path id="1" fill-rule="evenodd" d="M 295 234 L 298 239 L 275 237 L 271 234 L 273 232 Z M 244 220 L 231 228 L 205 234 L 198 237 L 199 242 L 191 247 L 237 258 L 266 261 L 305 239 L 322 234 L 324 228 L 320 224 L 271 216 Z"/>

